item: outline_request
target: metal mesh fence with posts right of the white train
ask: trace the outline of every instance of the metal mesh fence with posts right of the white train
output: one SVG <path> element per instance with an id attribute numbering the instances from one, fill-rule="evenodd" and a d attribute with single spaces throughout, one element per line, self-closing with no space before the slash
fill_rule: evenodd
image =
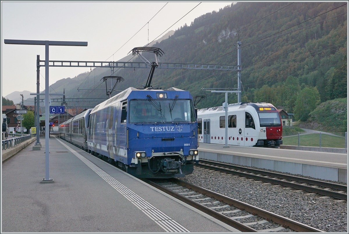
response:
<path id="1" fill-rule="evenodd" d="M 314 132 L 289 134 L 282 136 L 283 145 L 289 146 L 311 146 L 311 147 L 328 147 L 328 148 L 345 148 L 348 147 L 347 132 Z"/>

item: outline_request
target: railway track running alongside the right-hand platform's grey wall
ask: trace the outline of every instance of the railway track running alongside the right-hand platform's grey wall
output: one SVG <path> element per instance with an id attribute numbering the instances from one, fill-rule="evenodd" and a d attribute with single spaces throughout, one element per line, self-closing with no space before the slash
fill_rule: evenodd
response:
<path id="1" fill-rule="evenodd" d="M 330 182 L 307 179 L 303 177 L 290 176 L 276 172 L 263 171 L 252 169 L 243 166 L 235 166 L 225 163 L 212 162 L 208 160 L 199 159 L 199 164 L 196 166 L 204 167 L 206 169 L 225 172 L 240 177 L 246 177 L 257 181 L 264 181 L 267 183 L 290 187 L 298 190 L 304 190 L 311 193 L 317 193 L 341 200 L 347 200 L 347 186 L 334 184 Z M 301 184 L 297 184 L 301 183 Z M 330 190 L 334 189 L 334 190 Z"/>

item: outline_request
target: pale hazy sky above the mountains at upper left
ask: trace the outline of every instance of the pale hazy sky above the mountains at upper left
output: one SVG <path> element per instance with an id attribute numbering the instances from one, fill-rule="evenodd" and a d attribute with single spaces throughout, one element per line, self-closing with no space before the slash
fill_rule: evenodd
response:
<path id="1" fill-rule="evenodd" d="M 45 60 L 45 46 L 5 45 L 4 39 L 87 41 L 87 47 L 50 46 L 49 60 L 117 61 L 134 47 L 148 44 L 147 22 L 150 42 L 185 23 L 190 25 L 195 18 L 218 11 L 232 2 L 199 3 L 200 1 L 1 1 L 1 94 L 6 96 L 24 90 L 35 93 L 36 55 L 40 55 L 40 60 Z M 183 16 L 185 17 L 179 20 Z M 145 24 L 147 25 L 140 30 Z M 137 31 L 139 32 L 134 36 Z M 134 37 L 129 40 L 132 36 Z M 90 71 L 90 68 L 50 67 L 49 84 L 67 77 L 73 78 L 86 71 Z M 44 67 L 40 68 L 40 74 L 42 92 L 45 88 Z"/>

